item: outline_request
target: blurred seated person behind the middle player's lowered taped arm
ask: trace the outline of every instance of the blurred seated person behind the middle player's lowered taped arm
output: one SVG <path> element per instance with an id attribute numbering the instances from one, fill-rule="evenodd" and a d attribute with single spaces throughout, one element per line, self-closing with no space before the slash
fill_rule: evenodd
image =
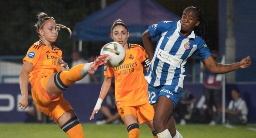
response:
<path id="1" fill-rule="evenodd" d="M 117 111 L 115 104 L 115 85 L 111 84 L 106 98 L 103 100 L 100 111 L 103 114 L 102 120 L 96 121 L 97 125 L 101 124 L 120 124 L 122 123 L 121 117 Z"/>

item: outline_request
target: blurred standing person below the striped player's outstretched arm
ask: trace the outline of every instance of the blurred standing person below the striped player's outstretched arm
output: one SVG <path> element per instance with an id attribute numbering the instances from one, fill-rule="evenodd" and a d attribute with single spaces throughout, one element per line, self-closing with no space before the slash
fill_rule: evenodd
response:
<path id="1" fill-rule="evenodd" d="M 219 53 L 216 50 L 211 51 L 212 57 L 219 62 Z M 201 69 L 204 72 L 204 95 L 207 104 L 207 113 L 210 117 L 210 125 L 215 125 L 218 116 L 221 116 L 222 102 L 222 74 L 213 74 L 204 65 Z"/>

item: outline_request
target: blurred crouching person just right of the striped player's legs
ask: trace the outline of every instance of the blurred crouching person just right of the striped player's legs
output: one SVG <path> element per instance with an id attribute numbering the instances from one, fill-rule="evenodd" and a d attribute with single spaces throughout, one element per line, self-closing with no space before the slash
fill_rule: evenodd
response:
<path id="1" fill-rule="evenodd" d="M 186 124 L 191 117 L 195 101 L 194 96 L 184 88 L 181 93 L 180 101 L 174 109 L 175 121 L 180 122 L 181 125 Z"/>

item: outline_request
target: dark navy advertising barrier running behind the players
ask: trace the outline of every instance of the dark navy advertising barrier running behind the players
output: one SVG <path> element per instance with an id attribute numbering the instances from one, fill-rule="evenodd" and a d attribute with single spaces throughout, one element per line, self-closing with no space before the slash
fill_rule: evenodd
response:
<path id="1" fill-rule="evenodd" d="M 99 112 L 93 121 L 89 120 L 98 99 L 100 88 L 101 84 L 74 84 L 63 93 L 81 122 L 90 123 L 102 117 Z M 203 94 L 203 85 L 185 83 L 184 88 L 194 95 L 197 104 Z M 248 123 L 256 123 L 256 100 L 254 99 L 256 98 L 256 84 L 227 84 L 226 106 L 231 99 L 230 91 L 232 88 L 240 89 L 241 96 L 247 103 L 249 110 Z M 0 84 L 0 122 L 24 122 L 27 119 L 26 111 L 28 109 L 22 111 L 18 106 L 20 98 L 19 84 Z"/>

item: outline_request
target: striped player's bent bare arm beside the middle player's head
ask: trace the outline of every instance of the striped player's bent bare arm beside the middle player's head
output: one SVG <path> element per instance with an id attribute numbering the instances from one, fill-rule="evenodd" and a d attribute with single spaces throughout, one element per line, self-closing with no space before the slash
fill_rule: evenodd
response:
<path id="1" fill-rule="evenodd" d="M 153 44 L 151 42 L 151 36 L 149 34 L 148 29 L 143 33 L 142 41 L 143 41 L 143 45 L 146 50 L 146 53 L 148 54 L 148 58 L 150 61 L 152 61 L 154 50 L 153 50 Z"/>

